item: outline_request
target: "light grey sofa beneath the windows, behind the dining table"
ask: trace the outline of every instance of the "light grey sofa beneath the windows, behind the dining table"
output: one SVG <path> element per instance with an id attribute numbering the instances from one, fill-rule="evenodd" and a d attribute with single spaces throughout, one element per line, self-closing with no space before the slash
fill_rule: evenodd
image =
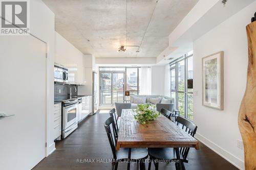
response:
<path id="1" fill-rule="evenodd" d="M 134 98 L 145 98 L 145 103 L 150 103 L 151 98 L 162 98 L 160 103 L 156 103 L 157 111 L 160 111 L 162 108 L 167 109 L 169 111 L 173 111 L 174 107 L 174 98 L 170 98 L 165 95 L 131 95 L 131 108 L 136 109 L 138 103 L 136 103 Z M 164 99 L 164 100 L 163 100 Z"/>

